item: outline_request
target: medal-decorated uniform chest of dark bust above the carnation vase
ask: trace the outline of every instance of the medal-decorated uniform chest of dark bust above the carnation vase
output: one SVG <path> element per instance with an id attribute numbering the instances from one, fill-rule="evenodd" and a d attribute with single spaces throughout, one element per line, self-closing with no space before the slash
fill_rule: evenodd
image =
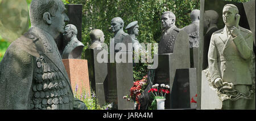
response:
<path id="1" fill-rule="evenodd" d="M 174 44 L 176 39 L 179 39 L 179 36 L 185 36 L 187 34 L 185 31 L 180 32 L 181 29 L 177 28 L 175 25 L 171 28 L 168 28 L 163 32 L 162 38 L 159 42 L 158 53 L 173 53 Z"/>

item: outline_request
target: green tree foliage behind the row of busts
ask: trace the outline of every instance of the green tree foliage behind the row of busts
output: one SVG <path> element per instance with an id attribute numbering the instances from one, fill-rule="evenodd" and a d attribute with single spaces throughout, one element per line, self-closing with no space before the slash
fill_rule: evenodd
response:
<path id="1" fill-rule="evenodd" d="M 182 28 L 191 23 L 189 14 L 193 9 L 200 9 L 200 0 L 69 0 L 69 3 L 83 5 L 82 17 L 82 42 L 88 46 L 89 33 L 92 29 L 101 29 L 105 34 L 105 42 L 109 44 L 109 38 L 113 33 L 109 30 L 110 22 L 119 16 L 125 22 L 125 27 L 137 20 L 139 25 L 139 42 L 159 42 L 161 36 L 160 16 L 164 11 L 173 11 L 176 15 L 176 25 Z M 124 28 L 125 28 L 124 27 Z"/>

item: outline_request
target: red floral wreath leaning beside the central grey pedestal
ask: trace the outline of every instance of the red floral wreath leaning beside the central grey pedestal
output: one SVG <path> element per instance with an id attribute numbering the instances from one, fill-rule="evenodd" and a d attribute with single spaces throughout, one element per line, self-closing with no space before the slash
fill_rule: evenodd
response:
<path id="1" fill-rule="evenodd" d="M 141 103 L 139 102 L 139 97 L 143 90 L 147 87 L 147 75 L 143 76 L 142 80 L 135 81 L 133 87 L 130 89 L 130 95 L 123 96 L 127 101 L 133 100 L 138 105 L 138 110 L 140 109 Z"/>

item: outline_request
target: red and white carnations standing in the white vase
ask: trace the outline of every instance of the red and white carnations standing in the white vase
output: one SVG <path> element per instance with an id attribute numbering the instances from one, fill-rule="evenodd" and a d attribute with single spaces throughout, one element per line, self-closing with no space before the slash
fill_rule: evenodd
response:
<path id="1" fill-rule="evenodd" d="M 161 84 L 160 88 L 159 84 L 152 85 L 152 88 L 148 90 L 148 93 L 152 93 L 156 99 L 163 99 L 166 98 L 166 94 L 170 93 L 170 86 Z"/>

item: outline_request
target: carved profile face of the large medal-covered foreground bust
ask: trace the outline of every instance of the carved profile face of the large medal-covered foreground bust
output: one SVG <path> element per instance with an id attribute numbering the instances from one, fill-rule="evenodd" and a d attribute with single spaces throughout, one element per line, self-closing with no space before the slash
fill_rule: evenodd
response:
<path id="1" fill-rule="evenodd" d="M 68 21 L 68 16 L 65 14 L 64 11 L 64 3 L 61 2 L 61 6 L 59 6 L 55 16 L 52 16 L 51 25 L 53 31 L 55 31 L 56 33 L 64 33 L 65 21 Z"/>

